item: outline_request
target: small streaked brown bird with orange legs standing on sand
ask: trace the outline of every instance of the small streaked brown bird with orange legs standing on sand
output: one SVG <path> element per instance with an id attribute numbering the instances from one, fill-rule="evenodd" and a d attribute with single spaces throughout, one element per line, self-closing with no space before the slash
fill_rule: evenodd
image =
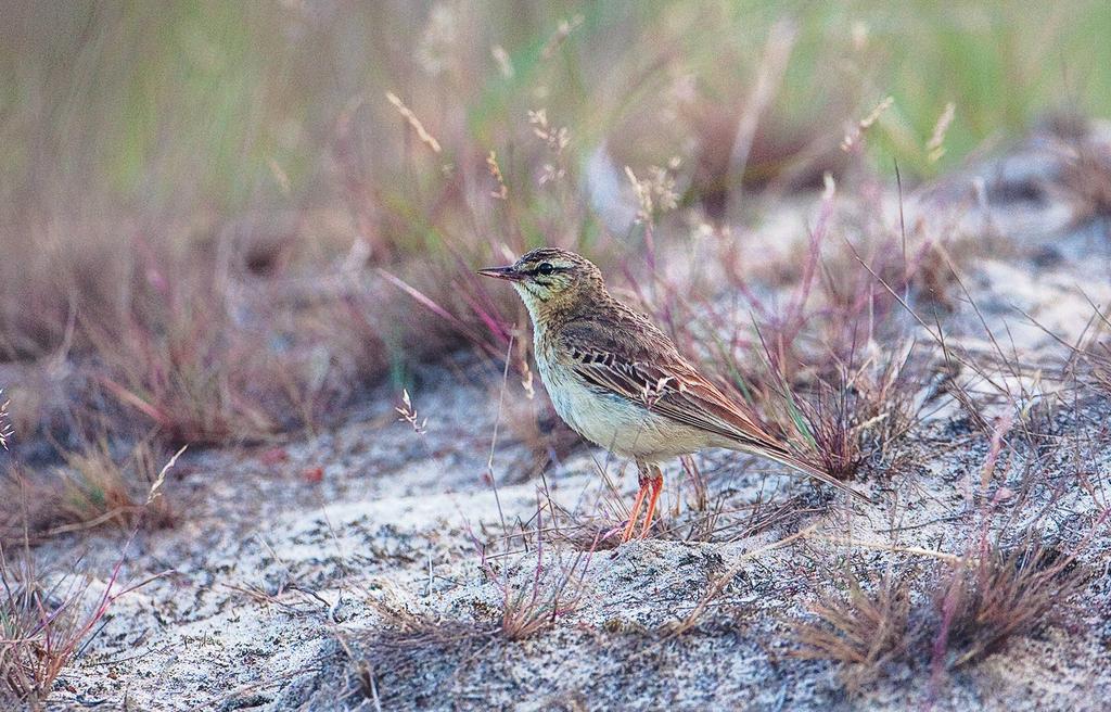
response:
<path id="1" fill-rule="evenodd" d="M 587 440 L 637 464 L 640 490 L 622 531 L 647 536 L 660 464 L 707 448 L 761 455 L 870 501 L 793 454 L 745 409 L 699 373 L 644 314 L 610 294 L 601 270 L 559 248 L 538 248 L 507 267 L 478 271 L 507 280 L 532 321 L 537 370 L 559 417 Z"/>

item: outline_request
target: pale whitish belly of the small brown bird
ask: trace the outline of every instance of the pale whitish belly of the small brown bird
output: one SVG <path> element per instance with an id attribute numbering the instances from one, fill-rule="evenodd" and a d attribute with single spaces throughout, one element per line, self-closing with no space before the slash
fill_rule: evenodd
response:
<path id="1" fill-rule="evenodd" d="M 540 378 L 556 412 L 575 432 L 620 455 L 649 462 L 710 445 L 708 434 L 609 393 L 582 384 L 570 370 L 538 358 Z"/>

